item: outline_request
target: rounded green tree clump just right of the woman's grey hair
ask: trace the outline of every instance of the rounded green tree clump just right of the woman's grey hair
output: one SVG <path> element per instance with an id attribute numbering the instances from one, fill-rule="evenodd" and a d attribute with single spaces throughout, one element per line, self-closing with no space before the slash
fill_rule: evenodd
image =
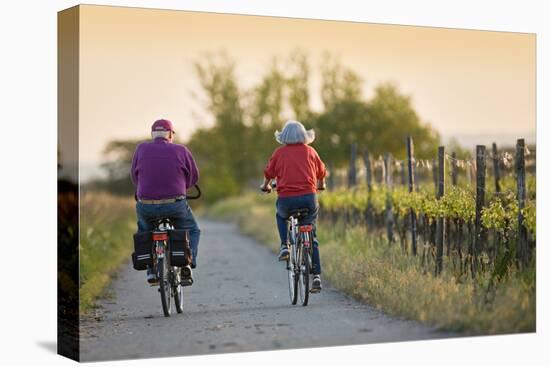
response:
<path id="1" fill-rule="evenodd" d="M 323 73 L 323 101 L 327 109 L 315 121 L 322 157 L 337 167 L 348 164 L 349 149 L 357 143 L 375 156 L 386 152 L 398 159 L 406 154 L 405 140 L 412 135 L 417 157 L 433 157 L 439 134 L 423 123 L 412 107 L 411 98 L 393 84 L 376 87 L 374 97 L 363 101 L 360 79 L 350 70 L 332 66 Z"/>

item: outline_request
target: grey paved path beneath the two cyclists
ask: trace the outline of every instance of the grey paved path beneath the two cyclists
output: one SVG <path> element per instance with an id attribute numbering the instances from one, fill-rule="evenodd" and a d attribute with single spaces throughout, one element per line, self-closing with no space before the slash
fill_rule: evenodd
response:
<path id="1" fill-rule="evenodd" d="M 128 264 L 82 320 L 83 361 L 325 347 L 447 337 L 331 289 L 292 306 L 283 264 L 232 224 L 201 221 L 195 284 L 164 317 L 156 287 Z M 322 255 L 322 254 L 321 254 Z"/>

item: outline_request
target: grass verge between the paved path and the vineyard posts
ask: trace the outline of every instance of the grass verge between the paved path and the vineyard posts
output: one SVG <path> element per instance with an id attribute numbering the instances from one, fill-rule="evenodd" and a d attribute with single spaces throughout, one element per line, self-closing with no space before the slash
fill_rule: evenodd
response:
<path id="1" fill-rule="evenodd" d="M 207 214 L 237 221 L 243 233 L 277 251 L 274 200 L 274 195 L 247 194 L 223 200 Z M 535 331 L 534 268 L 511 271 L 488 292 L 489 274 L 456 279 L 444 271 L 434 277 L 419 258 L 362 227 L 320 223 L 318 236 L 324 278 L 380 310 L 472 335 Z"/>

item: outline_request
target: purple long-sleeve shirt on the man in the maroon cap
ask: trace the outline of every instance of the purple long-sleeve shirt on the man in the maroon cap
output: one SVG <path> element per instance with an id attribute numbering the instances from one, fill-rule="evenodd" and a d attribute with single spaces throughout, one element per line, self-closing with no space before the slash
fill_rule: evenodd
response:
<path id="1" fill-rule="evenodd" d="M 146 200 L 185 195 L 187 189 L 199 179 L 199 171 L 189 149 L 164 138 L 138 145 L 131 174 L 138 198 Z"/>

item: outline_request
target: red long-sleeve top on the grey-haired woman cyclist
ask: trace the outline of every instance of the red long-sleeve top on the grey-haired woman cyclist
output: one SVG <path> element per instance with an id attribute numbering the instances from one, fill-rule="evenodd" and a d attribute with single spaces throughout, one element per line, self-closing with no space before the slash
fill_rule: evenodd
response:
<path id="1" fill-rule="evenodd" d="M 277 148 L 264 176 L 277 179 L 279 197 L 299 196 L 317 192 L 317 181 L 327 174 L 319 154 L 306 144 L 287 144 Z"/>

